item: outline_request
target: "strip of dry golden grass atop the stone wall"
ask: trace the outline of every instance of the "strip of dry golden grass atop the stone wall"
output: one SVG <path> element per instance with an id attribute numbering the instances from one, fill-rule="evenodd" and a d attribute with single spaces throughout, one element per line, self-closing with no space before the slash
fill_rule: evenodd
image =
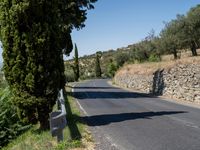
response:
<path id="1" fill-rule="evenodd" d="M 187 54 L 185 54 L 186 56 Z M 162 62 L 146 62 L 142 64 L 129 64 L 122 67 L 119 74 L 138 74 L 149 75 L 158 69 L 170 69 L 178 64 L 200 64 L 200 56 L 197 57 L 183 57 L 178 60 L 170 60 L 170 55 L 164 56 L 165 60 Z M 168 59 L 168 60 L 167 60 Z"/>

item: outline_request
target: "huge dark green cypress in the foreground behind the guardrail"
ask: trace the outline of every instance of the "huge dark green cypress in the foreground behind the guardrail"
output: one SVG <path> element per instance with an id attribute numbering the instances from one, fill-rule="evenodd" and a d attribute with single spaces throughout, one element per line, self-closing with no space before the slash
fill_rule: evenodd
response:
<path id="1" fill-rule="evenodd" d="M 24 121 L 49 127 L 49 113 L 65 85 L 63 53 L 72 50 L 71 30 L 84 27 L 95 1 L 0 1 L 4 73 Z"/>

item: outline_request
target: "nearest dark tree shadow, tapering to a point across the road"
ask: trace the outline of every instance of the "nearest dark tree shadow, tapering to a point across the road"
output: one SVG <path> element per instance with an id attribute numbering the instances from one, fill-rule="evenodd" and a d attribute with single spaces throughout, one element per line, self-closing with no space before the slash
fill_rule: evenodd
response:
<path id="1" fill-rule="evenodd" d="M 110 123 L 123 122 L 136 119 L 152 119 L 153 117 L 187 113 L 185 111 L 160 111 L 160 112 L 138 112 L 138 113 L 121 113 L 105 114 L 89 117 L 82 117 L 89 126 L 103 126 Z"/>

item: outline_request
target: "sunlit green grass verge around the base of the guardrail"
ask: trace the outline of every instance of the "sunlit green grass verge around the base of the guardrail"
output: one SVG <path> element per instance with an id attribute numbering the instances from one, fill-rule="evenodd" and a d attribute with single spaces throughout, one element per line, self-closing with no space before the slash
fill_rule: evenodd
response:
<path id="1" fill-rule="evenodd" d="M 82 150 L 87 149 L 88 145 L 93 145 L 91 135 L 80 119 L 80 111 L 69 90 L 68 88 L 64 93 L 68 125 L 64 129 L 63 142 L 57 144 L 56 137 L 52 137 L 50 131 L 40 131 L 39 125 L 35 125 L 2 150 L 68 150 L 75 148 Z"/>

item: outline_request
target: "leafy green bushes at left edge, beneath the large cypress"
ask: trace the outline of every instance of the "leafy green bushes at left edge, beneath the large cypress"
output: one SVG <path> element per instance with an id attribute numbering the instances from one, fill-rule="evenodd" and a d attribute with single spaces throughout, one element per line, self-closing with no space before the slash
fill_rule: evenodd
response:
<path id="1" fill-rule="evenodd" d="M 30 127 L 20 121 L 12 98 L 8 88 L 0 88 L 0 149 Z"/>

